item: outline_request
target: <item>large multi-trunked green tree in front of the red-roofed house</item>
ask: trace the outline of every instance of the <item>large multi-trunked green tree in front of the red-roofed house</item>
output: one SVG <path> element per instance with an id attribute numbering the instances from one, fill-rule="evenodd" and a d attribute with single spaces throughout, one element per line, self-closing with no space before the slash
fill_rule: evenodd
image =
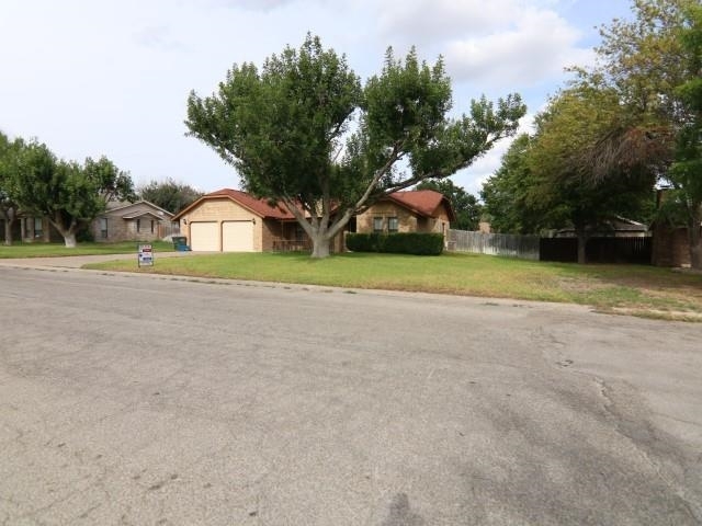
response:
<path id="1" fill-rule="evenodd" d="M 249 192 L 283 203 L 313 241 L 313 256 L 380 197 L 469 165 L 517 129 L 518 95 L 473 101 L 449 117 L 451 82 L 440 59 L 387 52 L 365 85 L 346 57 L 307 36 L 265 60 L 234 66 L 216 93 L 191 92 L 190 135 L 231 163 Z"/>

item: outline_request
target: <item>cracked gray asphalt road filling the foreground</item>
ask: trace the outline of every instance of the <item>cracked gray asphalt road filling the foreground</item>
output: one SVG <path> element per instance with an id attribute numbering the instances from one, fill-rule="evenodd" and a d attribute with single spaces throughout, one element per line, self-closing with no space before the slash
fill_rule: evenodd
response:
<path id="1" fill-rule="evenodd" d="M 2 525 L 700 525 L 702 325 L 0 266 Z"/>

